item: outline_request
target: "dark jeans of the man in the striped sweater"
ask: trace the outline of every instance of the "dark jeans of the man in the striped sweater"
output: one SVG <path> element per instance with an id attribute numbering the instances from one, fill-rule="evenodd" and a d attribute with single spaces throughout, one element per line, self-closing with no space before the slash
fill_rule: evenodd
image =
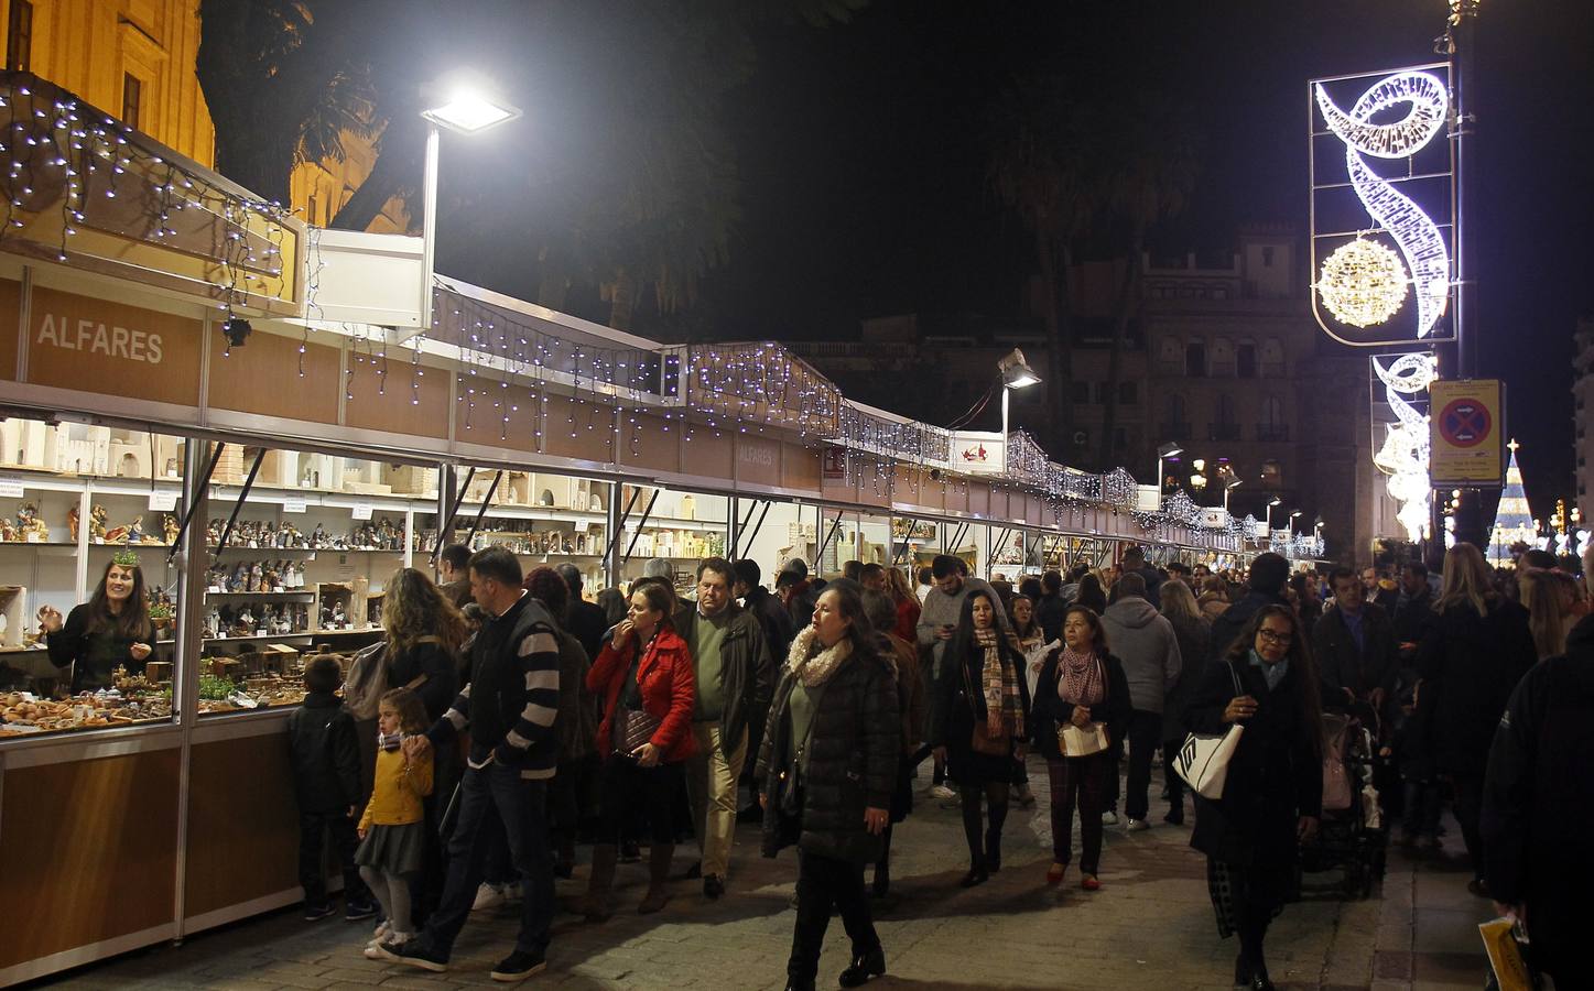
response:
<path id="1" fill-rule="evenodd" d="M 524 883 L 515 950 L 532 956 L 548 948 L 553 926 L 553 856 L 548 849 L 548 782 L 524 781 L 518 766 L 497 762 L 465 768 L 459 785 L 459 822 L 448 841 L 448 881 L 437 911 L 426 922 L 426 945 L 446 961 L 470 916 L 485 876 L 489 824 L 504 825 L 508 852 Z"/>

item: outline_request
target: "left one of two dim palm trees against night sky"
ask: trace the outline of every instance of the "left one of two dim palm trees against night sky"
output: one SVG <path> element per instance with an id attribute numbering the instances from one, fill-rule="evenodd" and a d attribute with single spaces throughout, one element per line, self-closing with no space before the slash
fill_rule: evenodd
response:
<path id="1" fill-rule="evenodd" d="M 1063 76 L 1042 73 L 1006 89 L 991 108 L 987 182 L 1035 241 L 1044 292 L 1054 454 L 1073 437 L 1073 333 L 1068 272 L 1073 245 L 1101 209 L 1101 182 L 1090 166 L 1084 112 Z"/>

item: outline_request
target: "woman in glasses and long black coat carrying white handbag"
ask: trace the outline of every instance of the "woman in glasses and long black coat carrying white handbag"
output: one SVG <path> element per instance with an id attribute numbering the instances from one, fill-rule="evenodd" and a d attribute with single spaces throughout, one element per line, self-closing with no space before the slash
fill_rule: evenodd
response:
<path id="1" fill-rule="evenodd" d="M 1290 895 L 1301 843 L 1317 835 L 1323 809 L 1317 685 L 1317 664 L 1294 612 L 1266 605 L 1223 663 L 1211 664 L 1184 711 L 1197 736 L 1242 727 L 1221 797 L 1196 800 L 1191 836 L 1191 846 L 1207 854 L 1218 934 L 1240 935 L 1234 962 L 1240 988 L 1274 986 L 1262 940 Z"/>

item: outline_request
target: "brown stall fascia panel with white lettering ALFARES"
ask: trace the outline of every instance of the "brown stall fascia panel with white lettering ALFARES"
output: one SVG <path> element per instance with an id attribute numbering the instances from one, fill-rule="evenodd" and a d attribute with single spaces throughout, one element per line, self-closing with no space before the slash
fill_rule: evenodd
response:
<path id="1" fill-rule="evenodd" d="M 198 406 L 202 328 L 191 317 L 35 288 L 27 381 Z"/>

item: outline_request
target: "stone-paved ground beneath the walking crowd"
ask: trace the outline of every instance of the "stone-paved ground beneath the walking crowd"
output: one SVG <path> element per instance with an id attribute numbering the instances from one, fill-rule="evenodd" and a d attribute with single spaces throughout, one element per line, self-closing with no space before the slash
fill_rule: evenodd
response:
<path id="1" fill-rule="evenodd" d="M 1003 872 L 963 891 L 961 819 L 923 793 L 894 841 L 893 894 L 878 905 L 877 927 L 891 973 L 872 988 L 1229 988 L 1235 943 L 1219 940 L 1207 900 L 1205 862 L 1189 849 L 1189 827 L 1160 822 L 1125 833 L 1108 827 L 1097 894 L 1078 887 L 1070 870 L 1060 889 L 1044 884 L 1050 862 L 1044 765 L 1031 760 L 1039 801 L 1012 806 Z M 1152 787 L 1159 787 L 1157 781 Z M 950 803 L 948 803 L 950 806 Z M 1417 859 L 1392 849 L 1382 892 L 1349 900 L 1339 873 L 1307 875 L 1302 900 L 1269 932 L 1269 966 L 1286 988 L 1479 988 L 1484 956 L 1476 924 L 1487 903 L 1465 891 L 1459 830 L 1443 854 Z M 585 852 L 585 851 L 583 851 Z M 690 846 L 676 852 L 684 870 Z M 585 926 L 561 915 L 550 969 L 528 986 L 550 988 L 781 988 L 791 946 L 794 857 L 757 856 L 757 827 L 738 830 L 730 892 L 706 902 L 695 883 L 676 883 L 669 907 L 636 916 L 644 865 L 622 865 L 615 918 Z M 585 868 L 561 881 L 561 895 L 582 891 Z M 282 911 L 199 934 L 81 969 L 51 981 L 62 991 L 97 988 L 481 988 L 488 969 L 508 951 L 515 916 L 472 918 L 448 973 L 430 975 L 360 956 L 367 924 L 332 918 L 304 922 Z M 846 966 L 840 919 L 832 922 L 819 986 L 834 986 Z"/>

